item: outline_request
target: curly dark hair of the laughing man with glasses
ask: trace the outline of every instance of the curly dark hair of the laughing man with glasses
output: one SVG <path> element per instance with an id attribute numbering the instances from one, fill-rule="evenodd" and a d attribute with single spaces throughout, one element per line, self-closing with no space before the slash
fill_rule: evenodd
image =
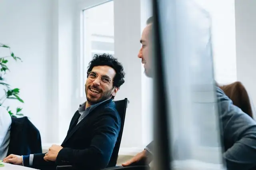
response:
<path id="1" fill-rule="evenodd" d="M 115 87 L 120 88 L 122 84 L 124 84 L 124 67 L 122 66 L 122 63 L 118 62 L 115 57 L 109 54 L 95 54 L 92 58 L 92 61 L 90 61 L 89 66 L 87 67 L 87 76 L 90 71 L 92 71 L 92 68 L 99 65 L 107 65 L 109 67 L 112 67 L 116 71 L 116 75 L 114 77 L 114 83 L 113 85 Z"/>

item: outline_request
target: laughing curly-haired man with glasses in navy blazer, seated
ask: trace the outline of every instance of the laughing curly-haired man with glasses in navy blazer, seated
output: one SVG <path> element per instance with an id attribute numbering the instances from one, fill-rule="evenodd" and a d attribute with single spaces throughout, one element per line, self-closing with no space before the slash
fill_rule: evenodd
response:
<path id="1" fill-rule="evenodd" d="M 46 154 L 11 154 L 4 162 L 41 170 L 54 170 L 63 164 L 105 168 L 120 132 L 121 119 L 112 99 L 124 83 L 124 75 L 122 64 L 112 55 L 94 55 L 85 84 L 87 101 L 74 114 L 61 146 L 52 145 Z"/>

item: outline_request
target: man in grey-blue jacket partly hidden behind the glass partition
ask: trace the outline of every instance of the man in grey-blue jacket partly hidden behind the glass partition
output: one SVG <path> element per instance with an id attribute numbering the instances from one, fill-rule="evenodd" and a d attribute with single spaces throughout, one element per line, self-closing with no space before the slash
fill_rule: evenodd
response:
<path id="1" fill-rule="evenodd" d="M 151 67 L 151 30 L 153 18 L 147 20 L 147 26 L 144 28 L 141 37 L 142 47 L 138 57 L 142 59 L 145 74 L 152 77 Z M 244 113 L 240 108 L 233 105 L 232 101 L 225 93 L 216 87 L 216 95 L 219 107 L 219 119 L 222 124 L 221 138 L 224 144 L 223 158 L 226 161 L 228 170 L 252 170 L 256 168 L 256 122 Z M 207 113 L 206 113 L 207 114 Z M 142 152 L 138 153 L 131 160 L 122 164 L 129 166 L 131 164 L 145 163 L 144 160 L 151 161 L 153 156 L 151 142 Z M 174 153 L 175 155 L 175 153 Z"/>

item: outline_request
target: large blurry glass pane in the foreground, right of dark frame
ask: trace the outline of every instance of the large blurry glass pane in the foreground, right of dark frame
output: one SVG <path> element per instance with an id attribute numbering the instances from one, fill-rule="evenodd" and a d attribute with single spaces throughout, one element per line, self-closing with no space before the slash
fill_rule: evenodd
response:
<path id="1" fill-rule="evenodd" d="M 194 0 L 159 9 L 174 170 L 220 170 L 211 17 Z"/>

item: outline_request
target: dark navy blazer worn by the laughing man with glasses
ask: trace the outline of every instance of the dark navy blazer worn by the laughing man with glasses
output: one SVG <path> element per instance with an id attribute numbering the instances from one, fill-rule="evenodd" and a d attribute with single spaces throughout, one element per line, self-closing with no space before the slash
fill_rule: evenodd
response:
<path id="1" fill-rule="evenodd" d="M 34 154 L 32 168 L 55 170 L 57 165 L 68 164 L 94 170 L 108 165 L 121 127 L 115 103 L 112 99 L 101 103 L 80 123 L 79 117 L 76 111 L 56 162 L 46 162 L 44 154 Z"/>

